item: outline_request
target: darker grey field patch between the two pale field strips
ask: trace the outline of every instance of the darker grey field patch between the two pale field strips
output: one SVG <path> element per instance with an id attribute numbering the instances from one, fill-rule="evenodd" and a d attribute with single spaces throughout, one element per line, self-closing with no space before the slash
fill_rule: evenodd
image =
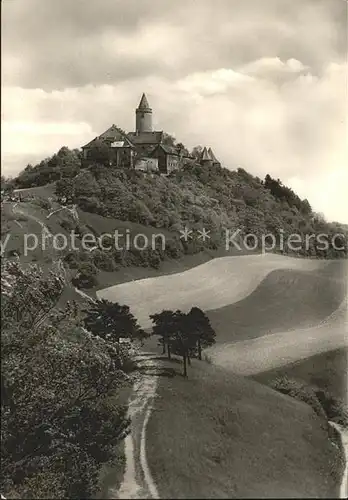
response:
<path id="1" fill-rule="evenodd" d="M 331 314 L 347 293 L 344 261 L 315 271 L 276 270 L 244 300 L 208 311 L 219 342 L 305 328 Z M 252 314 L 250 312 L 252 311 Z"/>

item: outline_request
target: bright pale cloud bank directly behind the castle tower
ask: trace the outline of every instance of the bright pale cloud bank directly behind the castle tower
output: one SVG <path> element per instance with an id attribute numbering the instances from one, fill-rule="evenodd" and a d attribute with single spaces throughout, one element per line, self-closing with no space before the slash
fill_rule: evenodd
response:
<path id="1" fill-rule="evenodd" d="M 259 60 L 250 67 L 264 66 Z M 290 71 L 287 61 L 274 66 Z M 281 86 L 265 79 L 262 71 L 262 76 L 257 71 L 245 75 L 242 66 L 176 81 L 148 77 L 54 92 L 4 89 L 2 149 L 7 155 L 22 151 L 23 158 L 35 151 L 44 156 L 62 145 L 79 147 L 112 123 L 132 130 L 137 100 L 149 89 L 157 129 L 175 134 L 189 147 L 211 145 L 228 168 L 242 165 L 261 177 L 270 173 L 285 183 L 297 182 L 317 210 L 333 218 L 336 210 L 339 218 L 344 198 L 332 196 L 335 209 L 322 189 L 330 182 L 331 191 L 325 192 L 334 191 L 332 179 L 340 179 L 347 162 L 342 106 L 347 65 L 329 64 L 320 77 L 302 74 L 300 62 L 290 69 L 295 77 Z M 336 185 L 341 189 L 341 182 Z"/>

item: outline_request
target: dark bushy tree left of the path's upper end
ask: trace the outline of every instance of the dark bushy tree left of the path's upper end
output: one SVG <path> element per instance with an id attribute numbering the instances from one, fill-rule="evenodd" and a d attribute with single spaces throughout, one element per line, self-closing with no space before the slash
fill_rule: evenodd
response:
<path id="1" fill-rule="evenodd" d="M 84 319 L 85 327 L 93 334 L 107 342 L 118 343 L 120 338 L 143 340 L 147 334 L 140 328 L 128 306 L 117 302 L 97 300 L 87 309 Z"/>

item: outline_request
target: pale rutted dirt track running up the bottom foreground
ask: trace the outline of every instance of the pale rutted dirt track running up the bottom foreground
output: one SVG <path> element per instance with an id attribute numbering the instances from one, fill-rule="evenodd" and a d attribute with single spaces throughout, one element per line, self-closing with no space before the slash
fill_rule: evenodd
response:
<path id="1" fill-rule="evenodd" d="M 146 427 L 158 380 L 151 370 L 156 365 L 149 353 L 140 354 L 137 361 L 145 373 L 136 380 L 129 401 L 128 414 L 132 422 L 125 440 L 126 470 L 120 489 L 110 489 L 108 498 L 159 498 L 146 459 Z"/>

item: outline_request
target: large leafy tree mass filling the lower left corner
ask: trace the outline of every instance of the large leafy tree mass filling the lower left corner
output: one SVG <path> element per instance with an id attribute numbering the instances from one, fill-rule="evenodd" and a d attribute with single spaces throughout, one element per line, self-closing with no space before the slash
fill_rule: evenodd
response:
<path id="1" fill-rule="evenodd" d="M 128 432 L 115 395 L 122 358 L 87 335 L 77 304 L 57 309 L 64 277 L 2 266 L 0 488 L 6 497 L 95 497 Z"/>

